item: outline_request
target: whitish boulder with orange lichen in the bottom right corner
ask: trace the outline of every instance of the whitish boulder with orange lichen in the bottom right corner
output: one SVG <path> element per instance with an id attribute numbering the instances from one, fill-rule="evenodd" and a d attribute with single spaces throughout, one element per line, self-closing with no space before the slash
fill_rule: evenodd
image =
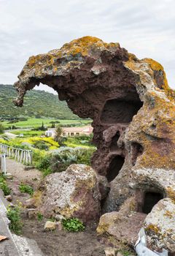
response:
<path id="1" fill-rule="evenodd" d="M 170 198 L 160 200 L 144 221 L 149 247 L 163 248 L 175 254 L 175 202 Z"/>

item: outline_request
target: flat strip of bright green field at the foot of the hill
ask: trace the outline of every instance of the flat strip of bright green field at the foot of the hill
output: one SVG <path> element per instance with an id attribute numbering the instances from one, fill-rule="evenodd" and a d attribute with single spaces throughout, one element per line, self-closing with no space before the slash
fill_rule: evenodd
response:
<path id="1" fill-rule="evenodd" d="M 14 124 L 9 124 L 9 121 L 4 121 L 2 124 L 4 127 L 7 129 L 8 127 L 11 127 L 12 125 L 15 125 L 16 128 L 36 128 L 36 127 L 41 127 L 42 122 L 44 123 L 44 126 L 50 127 L 52 124 L 50 122 L 52 121 L 58 121 L 58 124 L 55 125 L 66 125 L 66 124 L 76 124 L 76 126 L 83 126 L 85 124 L 89 124 L 90 120 L 70 120 L 70 119 L 53 119 L 53 118 L 28 118 L 27 121 L 19 121 Z"/>

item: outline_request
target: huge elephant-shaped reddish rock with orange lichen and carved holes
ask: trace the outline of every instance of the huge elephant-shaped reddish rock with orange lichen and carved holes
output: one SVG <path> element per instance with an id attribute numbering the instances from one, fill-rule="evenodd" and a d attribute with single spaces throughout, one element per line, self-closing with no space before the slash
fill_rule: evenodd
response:
<path id="1" fill-rule="evenodd" d="M 82 37 L 32 56 L 18 78 L 16 105 L 44 83 L 79 117 L 93 119 L 92 165 L 111 187 L 104 213 L 128 200 L 123 214 L 148 214 L 163 197 L 175 200 L 175 97 L 158 62 Z"/>

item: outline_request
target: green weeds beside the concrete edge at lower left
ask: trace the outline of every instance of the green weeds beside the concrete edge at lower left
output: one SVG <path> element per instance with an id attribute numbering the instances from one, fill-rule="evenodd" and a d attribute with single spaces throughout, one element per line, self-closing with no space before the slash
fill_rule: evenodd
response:
<path id="1" fill-rule="evenodd" d="M 20 235 L 22 233 L 23 223 L 20 217 L 21 203 L 15 206 L 7 207 L 7 218 L 10 220 L 9 229 L 15 234 Z"/>

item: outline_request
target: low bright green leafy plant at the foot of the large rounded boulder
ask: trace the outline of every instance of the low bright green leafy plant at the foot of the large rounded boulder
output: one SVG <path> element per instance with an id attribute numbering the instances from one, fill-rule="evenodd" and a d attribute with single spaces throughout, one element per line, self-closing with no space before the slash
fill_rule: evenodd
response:
<path id="1" fill-rule="evenodd" d="M 62 219 L 61 222 L 65 230 L 73 232 L 85 230 L 85 225 L 78 218 Z"/>

